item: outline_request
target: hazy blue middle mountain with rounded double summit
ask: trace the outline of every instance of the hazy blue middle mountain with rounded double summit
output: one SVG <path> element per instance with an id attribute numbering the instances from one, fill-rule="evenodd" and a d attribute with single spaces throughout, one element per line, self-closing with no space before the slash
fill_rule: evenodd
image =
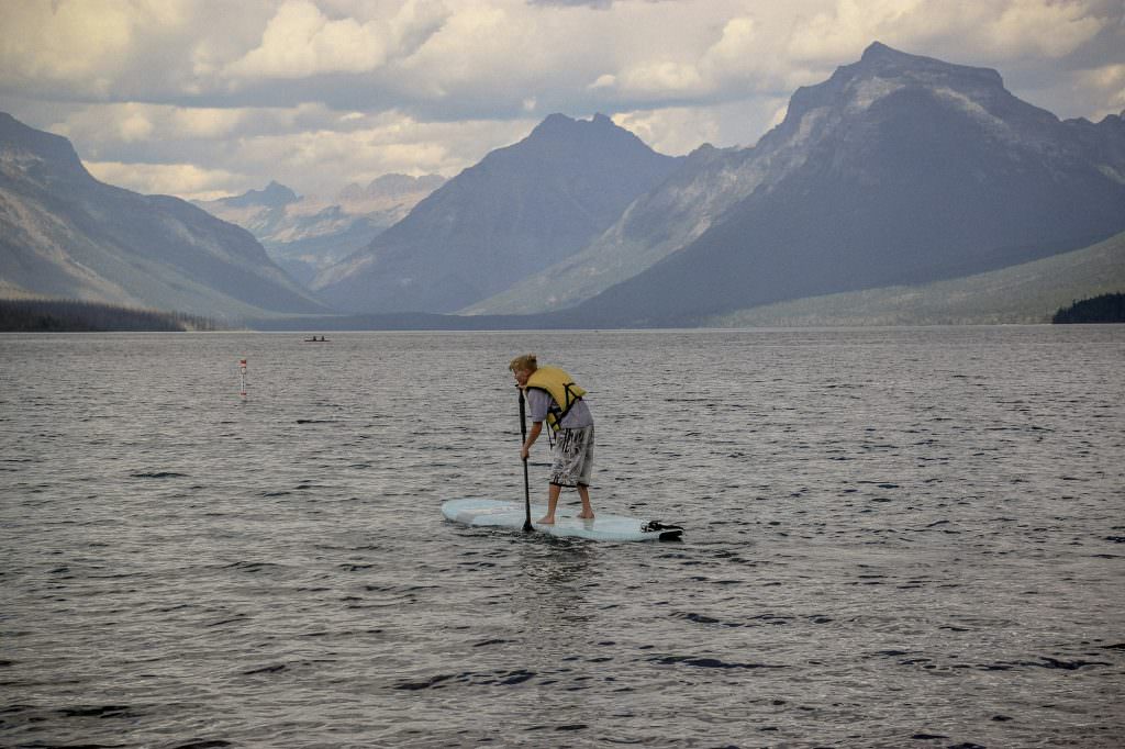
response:
<path id="1" fill-rule="evenodd" d="M 314 288 L 361 312 L 457 310 L 580 250 L 676 163 L 605 116 L 551 115 L 318 276 Z"/>

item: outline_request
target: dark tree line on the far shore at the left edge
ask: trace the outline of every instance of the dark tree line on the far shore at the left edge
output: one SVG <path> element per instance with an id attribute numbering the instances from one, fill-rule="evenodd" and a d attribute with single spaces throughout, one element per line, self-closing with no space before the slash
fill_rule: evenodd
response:
<path id="1" fill-rule="evenodd" d="M 78 299 L 0 299 L 0 331 L 86 333 L 215 331 L 213 317 Z"/>

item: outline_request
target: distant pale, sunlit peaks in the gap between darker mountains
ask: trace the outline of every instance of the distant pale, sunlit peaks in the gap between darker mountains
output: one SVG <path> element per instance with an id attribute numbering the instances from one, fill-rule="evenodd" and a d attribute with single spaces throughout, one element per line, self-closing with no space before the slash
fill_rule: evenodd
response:
<path id="1" fill-rule="evenodd" d="M 308 285 L 405 218 L 444 182 L 439 174 L 384 174 L 366 186 L 349 184 L 331 202 L 270 182 L 262 190 L 196 205 L 249 231 L 278 265 Z"/>

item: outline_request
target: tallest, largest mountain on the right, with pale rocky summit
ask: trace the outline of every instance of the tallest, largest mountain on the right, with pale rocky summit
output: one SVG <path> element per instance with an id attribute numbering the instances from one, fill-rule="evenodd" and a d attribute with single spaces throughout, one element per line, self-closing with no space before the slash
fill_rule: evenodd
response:
<path id="1" fill-rule="evenodd" d="M 1009 93 L 996 71 L 873 44 L 800 89 L 785 120 L 738 154 L 744 173 L 760 174 L 745 198 L 568 318 L 685 324 L 1084 246 L 1125 229 L 1117 119 L 1061 123 Z M 684 215 L 702 211 L 687 204 Z"/>

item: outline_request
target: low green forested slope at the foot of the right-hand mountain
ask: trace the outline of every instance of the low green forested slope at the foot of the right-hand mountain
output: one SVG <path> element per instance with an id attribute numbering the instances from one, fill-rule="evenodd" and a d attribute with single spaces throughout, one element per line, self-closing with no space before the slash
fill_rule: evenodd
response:
<path id="1" fill-rule="evenodd" d="M 780 301 L 702 321 L 712 327 L 1048 323 L 1076 299 L 1125 290 L 1125 233 L 1082 250 L 922 286 Z"/>

